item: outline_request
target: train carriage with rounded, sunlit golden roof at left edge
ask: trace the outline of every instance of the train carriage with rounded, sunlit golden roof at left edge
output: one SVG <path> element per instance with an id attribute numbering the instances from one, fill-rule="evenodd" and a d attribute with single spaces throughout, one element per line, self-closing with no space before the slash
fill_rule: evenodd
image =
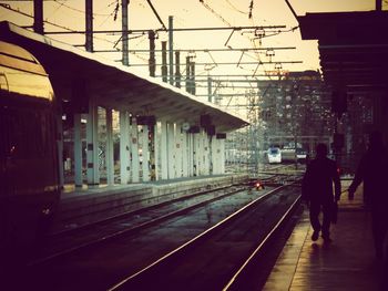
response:
<path id="1" fill-rule="evenodd" d="M 0 252 L 30 247 L 60 199 L 54 94 L 38 60 L 0 41 Z"/>

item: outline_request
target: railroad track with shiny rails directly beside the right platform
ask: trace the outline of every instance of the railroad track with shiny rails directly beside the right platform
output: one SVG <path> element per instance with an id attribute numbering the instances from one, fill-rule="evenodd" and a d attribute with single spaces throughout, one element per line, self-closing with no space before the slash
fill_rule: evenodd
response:
<path id="1" fill-rule="evenodd" d="M 295 188 L 276 188 L 109 290 L 245 290 L 241 278 L 298 201 Z"/>

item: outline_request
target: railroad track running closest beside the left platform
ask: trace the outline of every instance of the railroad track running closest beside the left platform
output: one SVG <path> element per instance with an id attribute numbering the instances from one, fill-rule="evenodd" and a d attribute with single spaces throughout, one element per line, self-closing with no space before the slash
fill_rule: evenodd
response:
<path id="1" fill-rule="evenodd" d="M 30 258 L 28 264 L 34 266 L 104 243 L 245 189 L 247 187 L 244 185 L 235 185 L 195 193 L 53 233 L 42 241 L 41 248 Z"/>

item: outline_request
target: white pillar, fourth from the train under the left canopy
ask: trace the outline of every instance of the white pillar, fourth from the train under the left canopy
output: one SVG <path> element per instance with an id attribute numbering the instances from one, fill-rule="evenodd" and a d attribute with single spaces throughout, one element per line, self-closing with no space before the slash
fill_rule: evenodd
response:
<path id="1" fill-rule="evenodd" d="M 120 180 L 130 181 L 130 114 L 120 111 Z"/>

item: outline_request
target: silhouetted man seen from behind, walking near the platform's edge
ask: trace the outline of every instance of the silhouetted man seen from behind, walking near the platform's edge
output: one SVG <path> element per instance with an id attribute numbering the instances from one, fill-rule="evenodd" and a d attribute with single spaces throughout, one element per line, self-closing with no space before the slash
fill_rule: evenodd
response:
<path id="1" fill-rule="evenodd" d="M 333 194 L 335 185 L 335 196 Z M 307 166 L 302 188 L 302 198 L 309 204 L 309 218 L 314 229 L 312 240 L 316 241 L 321 230 L 325 241 L 330 241 L 330 222 L 333 218 L 334 204 L 340 197 L 340 180 L 337 165 L 327 157 L 327 146 L 318 144 L 316 158 Z M 323 224 L 319 214 L 323 211 Z"/>

